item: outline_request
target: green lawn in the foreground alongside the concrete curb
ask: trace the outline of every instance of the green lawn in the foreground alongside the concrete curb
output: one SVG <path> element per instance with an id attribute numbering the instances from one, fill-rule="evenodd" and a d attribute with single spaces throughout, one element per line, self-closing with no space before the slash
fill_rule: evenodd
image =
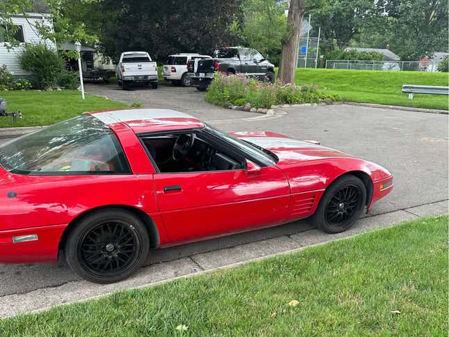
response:
<path id="1" fill-rule="evenodd" d="M 447 336 L 447 240 L 447 216 L 417 219 L 0 320 L 0 336 Z"/>

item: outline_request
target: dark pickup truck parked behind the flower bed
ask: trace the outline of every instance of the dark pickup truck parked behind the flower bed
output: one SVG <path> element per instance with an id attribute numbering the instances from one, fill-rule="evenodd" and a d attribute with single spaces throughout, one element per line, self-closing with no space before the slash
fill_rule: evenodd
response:
<path id="1" fill-rule="evenodd" d="M 212 58 L 191 60 L 187 63 L 190 86 L 205 91 L 214 79 L 214 72 L 242 73 L 262 81 L 274 82 L 274 65 L 269 63 L 255 49 L 245 47 L 224 47 L 216 49 Z"/>

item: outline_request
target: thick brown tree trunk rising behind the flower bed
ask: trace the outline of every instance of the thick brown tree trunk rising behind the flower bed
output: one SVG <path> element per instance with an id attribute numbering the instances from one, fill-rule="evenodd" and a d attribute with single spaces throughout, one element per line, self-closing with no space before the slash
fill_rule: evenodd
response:
<path id="1" fill-rule="evenodd" d="M 284 83 L 294 84 L 294 72 L 298 63 L 299 35 L 301 34 L 301 21 L 305 7 L 306 0 L 290 1 L 287 17 L 290 33 L 282 45 L 281 63 L 278 71 L 278 77 Z"/>

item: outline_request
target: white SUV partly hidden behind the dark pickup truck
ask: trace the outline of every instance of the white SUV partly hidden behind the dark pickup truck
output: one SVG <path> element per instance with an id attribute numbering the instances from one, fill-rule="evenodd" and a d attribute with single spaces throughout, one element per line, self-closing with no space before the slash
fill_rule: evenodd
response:
<path id="1" fill-rule="evenodd" d="M 211 58 L 200 54 L 175 54 L 167 58 L 163 66 L 162 75 L 166 81 L 171 81 L 174 86 L 190 86 L 190 77 L 187 72 L 187 62 L 190 60 L 203 60 Z"/>

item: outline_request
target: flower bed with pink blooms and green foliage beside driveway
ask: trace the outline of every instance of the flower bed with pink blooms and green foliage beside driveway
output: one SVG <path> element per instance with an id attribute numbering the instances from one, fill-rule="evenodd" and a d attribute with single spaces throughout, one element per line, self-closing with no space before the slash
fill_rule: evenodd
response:
<path id="1" fill-rule="evenodd" d="M 210 84 L 206 100 L 221 107 L 250 103 L 253 108 L 269 109 L 274 104 L 318 103 L 340 100 L 340 97 L 324 95 L 317 86 L 293 86 L 281 81 L 271 84 L 244 75 L 221 74 Z"/>

